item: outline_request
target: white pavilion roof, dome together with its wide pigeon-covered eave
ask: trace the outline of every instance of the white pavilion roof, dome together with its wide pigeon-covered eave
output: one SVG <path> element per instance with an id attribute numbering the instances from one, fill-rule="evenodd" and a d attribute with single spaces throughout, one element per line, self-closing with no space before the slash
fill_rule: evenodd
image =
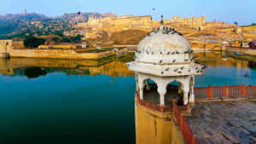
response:
<path id="1" fill-rule="evenodd" d="M 189 42 L 180 33 L 161 26 L 143 38 L 136 60 L 127 66 L 131 71 L 160 77 L 200 75 L 206 66 L 196 64 L 194 59 Z"/>

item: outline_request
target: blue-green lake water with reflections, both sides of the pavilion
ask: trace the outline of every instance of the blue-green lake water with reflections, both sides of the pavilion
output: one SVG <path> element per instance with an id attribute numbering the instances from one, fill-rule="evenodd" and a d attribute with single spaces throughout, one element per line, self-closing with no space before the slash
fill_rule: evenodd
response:
<path id="1" fill-rule="evenodd" d="M 208 56 L 198 56 L 208 68 L 195 77 L 195 87 L 256 84 L 255 57 Z M 135 143 L 136 84 L 125 66 L 131 57 L 96 66 L 0 60 L 0 144 Z"/>

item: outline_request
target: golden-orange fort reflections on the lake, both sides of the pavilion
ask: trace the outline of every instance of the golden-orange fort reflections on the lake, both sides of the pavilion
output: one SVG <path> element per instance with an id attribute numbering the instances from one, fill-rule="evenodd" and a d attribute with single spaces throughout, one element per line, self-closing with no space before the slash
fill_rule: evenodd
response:
<path id="1" fill-rule="evenodd" d="M 207 66 L 235 66 L 237 68 L 256 68 L 256 62 L 241 60 L 233 57 L 223 58 L 217 52 L 195 53 L 196 60 L 207 64 Z M 67 75 L 98 75 L 106 74 L 113 78 L 117 76 L 134 76 L 134 72 L 128 70 L 125 62 L 133 60 L 133 54 L 128 54 L 120 58 L 115 56 L 102 60 L 60 60 L 60 59 L 28 59 L 11 58 L 0 59 L 0 73 L 6 75 L 25 75 L 24 71 L 28 67 L 42 67 L 46 72 L 65 72 Z"/>

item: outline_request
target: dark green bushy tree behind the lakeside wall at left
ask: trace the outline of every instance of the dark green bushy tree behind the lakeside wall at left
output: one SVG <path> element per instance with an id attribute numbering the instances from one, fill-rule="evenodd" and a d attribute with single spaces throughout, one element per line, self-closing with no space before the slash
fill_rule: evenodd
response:
<path id="1" fill-rule="evenodd" d="M 38 38 L 38 37 L 26 37 L 24 39 L 24 45 L 27 48 L 38 48 L 39 45 L 44 44 L 45 39 L 44 38 Z"/>

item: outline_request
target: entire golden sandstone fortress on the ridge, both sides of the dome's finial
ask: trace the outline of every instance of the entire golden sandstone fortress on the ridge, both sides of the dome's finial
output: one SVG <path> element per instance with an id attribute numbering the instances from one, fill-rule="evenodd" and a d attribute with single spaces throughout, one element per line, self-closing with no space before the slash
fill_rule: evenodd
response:
<path id="1" fill-rule="evenodd" d="M 206 16 L 192 18 L 180 16 L 172 16 L 171 20 L 164 20 L 165 26 L 171 26 L 175 28 L 187 28 L 193 29 L 196 32 L 198 30 L 207 29 L 207 27 L 212 28 L 212 26 L 218 27 L 236 27 L 234 24 L 227 24 L 223 21 L 212 21 L 206 22 Z M 89 17 L 86 22 L 79 23 L 76 29 L 84 35 L 84 38 L 97 38 L 102 32 L 107 32 L 108 36 L 113 32 L 122 32 L 127 30 L 140 30 L 143 32 L 151 32 L 152 29 L 159 27 L 160 21 L 153 20 L 151 15 L 115 15 L 111 14 L 106 17 L 95 18 L 93 16 Z"/>

